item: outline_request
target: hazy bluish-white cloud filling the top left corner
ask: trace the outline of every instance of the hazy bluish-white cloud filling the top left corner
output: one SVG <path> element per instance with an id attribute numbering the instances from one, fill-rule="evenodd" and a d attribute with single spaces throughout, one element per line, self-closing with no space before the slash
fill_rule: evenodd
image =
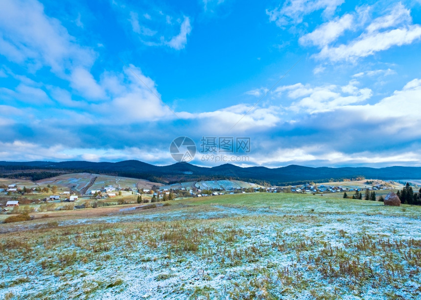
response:
<path id="1" fill-rule="evenodd" d="M 75 44 L 67 29 L 47 17 L 35 0 L 0 1 L 0 32 L 0 53 L 35 69 L 47 65 L 64 76 L 66 69 L 94 61 L 93 52 Z"/>

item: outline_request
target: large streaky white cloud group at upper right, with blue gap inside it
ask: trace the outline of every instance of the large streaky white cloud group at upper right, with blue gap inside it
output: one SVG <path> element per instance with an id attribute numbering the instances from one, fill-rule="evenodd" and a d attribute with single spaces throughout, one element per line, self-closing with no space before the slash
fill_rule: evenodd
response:
<path id="1" fill-rule="evenodd" d="M 388 50 L 394 46 L 409 45 L 421 38 L 421 26 L 412 24 L 410 11 L 401 3 L 389 9 L 389 12 L 371 21 L 365 30 L 355 39 L 338 46 L 331 45 L 346 29 L 356 30 L 370 22 L 368 9 L 356 9 L 358 20 L 353 22 L 353 15 L 346 14 L 320 25 L 313 32 L 302 36 L 302 45 L 316 45 L 321 48 L 312 57 L 330 61 L 355 61 L 376 52 Z"/>

